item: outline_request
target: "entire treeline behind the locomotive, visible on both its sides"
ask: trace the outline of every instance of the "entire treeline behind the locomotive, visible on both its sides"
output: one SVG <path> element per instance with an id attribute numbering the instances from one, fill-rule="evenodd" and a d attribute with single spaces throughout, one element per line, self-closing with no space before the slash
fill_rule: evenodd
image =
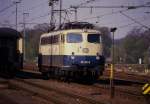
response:
<path id="1" fill-rule="evenodd" d="M 26 60 L 33 61 L 38 56 L 41 34 L 48 32 L 49 24 L 39 24 L 32 29 L 26 29 Z M 107 59 L 112 57 L 112 38 L 108 27 L 97 27 L 103 38 L 103 54 Z M 115 34 L 119 35 L 119 34 Z M 150 64 L 150 30 L 132 29 L 125 38 L 115 40 L 115 63 Z M 110 60 L 109 60 L 110 61 Z"/>

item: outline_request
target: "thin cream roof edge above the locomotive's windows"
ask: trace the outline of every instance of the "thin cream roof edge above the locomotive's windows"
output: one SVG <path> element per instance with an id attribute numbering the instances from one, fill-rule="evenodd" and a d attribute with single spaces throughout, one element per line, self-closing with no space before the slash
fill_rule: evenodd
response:
<path id="1" fill-rule="evenodd" d="M 93 29 L 68 29 L 68 30 L 51 31 L 50 33 L 44 33 L 44 34 L 41 35 L 41 37 L 47 37 L 47 36 L 51 36 L 51 35 L 58 35 L 60 33 L 71 33 L 71 32 L 76 32 L 76 33 L 82 33 L 82 32 L 100 33 L 100 31 L 93 30 Z"/>

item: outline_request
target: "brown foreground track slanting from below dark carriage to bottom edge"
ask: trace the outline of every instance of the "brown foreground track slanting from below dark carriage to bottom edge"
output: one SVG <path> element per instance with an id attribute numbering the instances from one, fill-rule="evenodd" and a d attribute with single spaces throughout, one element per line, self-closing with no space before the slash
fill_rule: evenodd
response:
<path id="1" fill-rule="evenodd" d="M 10 80 L 9 84 L 13 88 L 21 88 L 55 104 L 67 104 L 68 102 L 71 102 L 71 104 L 107 104 L 76 93 L 33 83 L 29 80 L 15 79 Z"/>

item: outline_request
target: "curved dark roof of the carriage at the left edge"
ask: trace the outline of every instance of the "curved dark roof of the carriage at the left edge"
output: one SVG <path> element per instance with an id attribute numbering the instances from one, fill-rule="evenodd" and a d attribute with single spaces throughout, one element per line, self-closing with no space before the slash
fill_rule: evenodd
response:
<path id="1" fill-rule="evenodd" d="M 0 28 L 0 37 L 19 38 L 21 37 L 21 34 L 20 32 L 11 28 Z"/>

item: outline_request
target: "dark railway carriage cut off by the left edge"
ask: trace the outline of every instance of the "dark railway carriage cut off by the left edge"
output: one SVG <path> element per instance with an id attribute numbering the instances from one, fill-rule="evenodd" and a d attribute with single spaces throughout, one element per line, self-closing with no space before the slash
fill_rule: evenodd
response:
<path id="1" fill-rule="evenodd" d="M 0 73 L 14 76 L 23 67 L 22 36 L 11 28 L 0 28 Z"/>

